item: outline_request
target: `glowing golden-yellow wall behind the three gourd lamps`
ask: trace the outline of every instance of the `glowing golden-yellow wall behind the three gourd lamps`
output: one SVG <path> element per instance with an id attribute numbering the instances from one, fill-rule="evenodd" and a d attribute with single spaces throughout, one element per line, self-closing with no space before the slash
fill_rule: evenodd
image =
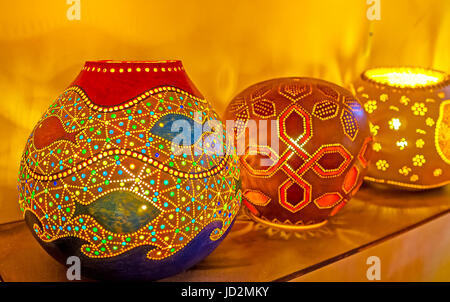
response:
<path id="1" fill-rule="evenodd" d="M 281 76 L 345 84 L 364 68 L 449 71 L 450 1 L 66 0 L 0 3 L 0 223 L 20 219 L 16 176 L 32 127 L 85 60 L 181 59 L 222 113 L 245 87 Z"/>

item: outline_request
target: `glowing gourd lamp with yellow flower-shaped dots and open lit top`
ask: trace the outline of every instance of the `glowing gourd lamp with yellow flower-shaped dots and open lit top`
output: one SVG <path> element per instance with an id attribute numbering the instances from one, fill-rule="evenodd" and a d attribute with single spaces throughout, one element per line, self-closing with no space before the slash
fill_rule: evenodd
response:
<path id="1" fill-rule="evenodd" d="M 421 190 L 450 182 L 450 80 L 423 68 L 374 68 L 353 83 L 373 133 L 366 180 Z"/>

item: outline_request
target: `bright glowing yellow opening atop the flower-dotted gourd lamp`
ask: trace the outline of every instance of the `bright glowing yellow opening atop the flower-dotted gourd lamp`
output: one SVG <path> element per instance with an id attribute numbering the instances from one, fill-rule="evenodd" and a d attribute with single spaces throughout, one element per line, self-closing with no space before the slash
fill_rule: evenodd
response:
<path id="1" fill-rule="evenodd" d="M 447 79 L 443 72 L 412 67 L 374 68 L 367 70 L 364 76 L 376 83 L 400 88 L 433 86 Z"/>

